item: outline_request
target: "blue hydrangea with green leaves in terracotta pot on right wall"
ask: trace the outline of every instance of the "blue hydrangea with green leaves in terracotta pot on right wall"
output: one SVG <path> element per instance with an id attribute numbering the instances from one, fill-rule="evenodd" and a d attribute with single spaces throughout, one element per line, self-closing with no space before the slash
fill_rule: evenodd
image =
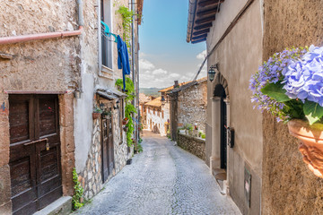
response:
<path id="1" fill-rule="evenodd" d="M 323 47 L 276 53 L 250 79 L 252 101 L 270 111 L 301 141 L 310 170 L 323 177 Z"/>

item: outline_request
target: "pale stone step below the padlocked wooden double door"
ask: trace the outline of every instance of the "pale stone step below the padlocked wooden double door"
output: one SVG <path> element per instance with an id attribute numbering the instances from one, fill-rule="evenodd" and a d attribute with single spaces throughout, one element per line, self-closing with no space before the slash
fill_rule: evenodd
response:
<path id="1" fill-rule="evenodd" d="M 65 215 L 72 211 L 72 197 L 62 196 L 33 215 Z"/>

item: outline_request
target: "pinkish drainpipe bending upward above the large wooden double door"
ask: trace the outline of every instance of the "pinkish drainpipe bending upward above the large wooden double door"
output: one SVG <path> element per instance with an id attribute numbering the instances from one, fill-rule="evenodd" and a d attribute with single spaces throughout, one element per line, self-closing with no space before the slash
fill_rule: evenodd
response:
<path id="1" fill-rule="evenodd" d="M 55 39 L 55 38 L 65 38 L 65 37 L 73 37 L 73 36 L 81 35 L 82 31 L 83 31 L 83 13 L 82 13 L 83 12 L 83 3 L 82 3 L 82 0 L 77 0 L 77 4 L 78 4 L 78 19 L 79 19 L 79 29 L 78 30 L 4 37 L 4 38 L 0 38 L 0 45 L 19 43 L 19 42 L 29 42 L 29 41 L 33 41 L 33 40 L 39 40 L 39 39 Z"/>

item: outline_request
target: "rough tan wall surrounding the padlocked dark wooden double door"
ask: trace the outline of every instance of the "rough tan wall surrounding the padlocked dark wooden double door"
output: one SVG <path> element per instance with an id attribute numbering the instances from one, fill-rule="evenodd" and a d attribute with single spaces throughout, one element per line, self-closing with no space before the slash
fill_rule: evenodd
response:
<path id="1" fill-rule="evenodd" d="M 4 0 L 0 37 L 77 30 L 76 1 Z M 43 39 L 0 46 L 0 213 L 10 214 L 9 101 L 7 91 L 72 91 L 80 82 L 79 37 Z M 73 193 L 74 97 L 59 96 L 63 193 Z"/>

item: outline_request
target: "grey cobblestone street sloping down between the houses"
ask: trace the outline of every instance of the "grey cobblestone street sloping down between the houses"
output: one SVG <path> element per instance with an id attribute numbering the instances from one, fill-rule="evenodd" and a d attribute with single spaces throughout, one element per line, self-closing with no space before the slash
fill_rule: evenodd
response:
<path id="1" fill-rule="evenodd" d="M 240 214 L 201 159 L 150 132 L 144 133 L 143 147 L 74 214 Z"/>

